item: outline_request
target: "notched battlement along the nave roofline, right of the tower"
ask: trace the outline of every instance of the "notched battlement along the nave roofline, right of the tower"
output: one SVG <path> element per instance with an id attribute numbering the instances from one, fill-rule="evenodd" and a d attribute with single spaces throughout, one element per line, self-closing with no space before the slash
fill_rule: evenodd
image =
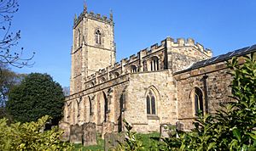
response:
<path id="1" fill-rule="evenodd" d="M 93 15 L 94 17 L 100 18 L 99 14 Z M 201 53 L 204 53 L 207 56 L 212 55 L 212 51 L 210 49 L 204 48 L 198 42 L 195 43 L 195 40 L 192 38 L 188 38 L 187 40 L 185 40 L 184 38 L 177 38 L 176 40 L 174 40 L 171 37 L 167 37 L 160 43 L 155 43 L 149 48 L 142 49 L 137 54 L 132 54 L 129 58 L 121 59 L 120 62 L 117 62 L 112 66 L 108 66 L 107 68 L 98 70 L 95 74 L 87 76 L 85 83 L 88 84 L 87 87 L 90 87 L 90 81 L 94 81 L 95 84 L 99 84 L 102 82 L 102 79 L 108 81 L 116 78 L 117 76 L 125 75 L 129 73 L 129 70 L 131 70 L 131 65 L 135 65 L 139 68 L 139 66 L 142 66 L 142 64 L 140 63 L 142 63 L 144 60 L 150 59 L 151 57 L 158 56 L 160 53 L 163 54 L 162 52 L 166 51 L 167 47 L 178 49 L 189 47 L 193 48 L 195 51 L 199 50 Z M 142 72 L 143 70 L 139 71 Z"/>

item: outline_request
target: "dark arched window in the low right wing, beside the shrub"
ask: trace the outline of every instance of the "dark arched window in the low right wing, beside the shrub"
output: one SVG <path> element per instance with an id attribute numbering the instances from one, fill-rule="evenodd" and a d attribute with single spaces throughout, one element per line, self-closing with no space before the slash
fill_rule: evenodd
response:
<path id="1" fill-rule="evenodd" d="M 204 113 L 203 94 L 201 92 L 201 89 L 198 87 L 195 87 L 194 102 L 195 102 L 195 115 L 198 115 L 200 111 L 203 114 Z"/>

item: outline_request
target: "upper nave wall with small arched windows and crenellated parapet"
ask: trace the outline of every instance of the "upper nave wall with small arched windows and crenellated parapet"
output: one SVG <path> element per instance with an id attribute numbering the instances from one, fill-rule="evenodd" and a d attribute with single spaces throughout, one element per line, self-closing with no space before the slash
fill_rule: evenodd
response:
<path id="1" fill-rule="evenodd" d="M 174 55 L 173 53 L 176 53 L 175 51 L 179 51 L 178 53 L 185 53 L 187 56 L 189 56 L 189 53 L 191 52 L 193 53 L 191 55 L 195 55 L 196 52 L 199 53 L 199 55 L 202 55 L 201 53 L 203 53 L 204 55 L 202 56 L 207 56 L 207 58 L 212 56 L 211 50 L 204 48 L 198 42 L 195 43 L 194 39 L 192 38 L 188 38 L 187 40 L 177 38 L 175 41 L 171 37 L 167 37 L 160 43 L 155 43 L 149 48 L 144 48 L 143 50 L 139 51 L 137 54 L 132 54 L 129 58 L 121 59 L 120 62 L 117 62 L 112 66 L 108 66 L 107 68 L 98 70 L 95 74 L 87 76 L 84 83 L 85 89 L 94 87 L 95 85 L 104 83 L 106 81 L 111 81 L 119 76 L 151 71 L 149 65 L 151 64 L 150 61 L 153 58 L 157 58 L 159 60 L 159 70 L 169 69 L 165 60 L 165 55 L 169 55 L 166 53 L 168 47 L 172 48 L 172 55 Z M 183 50 L 187 52 L 182 52 Z M 185 60 L 184 62 L 188 62 L 188 60 Z M 136 70 L 134 70 L 134 68 L 136 68 Z"/>

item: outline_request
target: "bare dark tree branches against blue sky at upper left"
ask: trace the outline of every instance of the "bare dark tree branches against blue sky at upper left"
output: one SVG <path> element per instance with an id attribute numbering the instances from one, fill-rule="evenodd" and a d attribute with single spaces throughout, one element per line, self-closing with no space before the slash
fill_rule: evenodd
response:
<path id="1" fill-rule="evenodd" d="M 17 0 L 0 0 L 0 63 L 22 68 L 25 65 L 32 65 L 29 61 L 34 53 L 32 57 L 25 59 L 21 57 L 23 48 L 20 48 L 20 51 L 11 50 L 20 39 L 20 31 L 11 31 L 13 14 L 18 11 L 18 8 Z"/>

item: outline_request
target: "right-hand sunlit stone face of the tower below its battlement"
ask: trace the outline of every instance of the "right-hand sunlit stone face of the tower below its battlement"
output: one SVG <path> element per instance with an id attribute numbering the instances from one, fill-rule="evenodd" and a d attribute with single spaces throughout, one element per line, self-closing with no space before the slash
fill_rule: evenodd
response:
<path id="1" fill-rule="evenodd" d="M 115 63 L 115 50 L 113 42 L 113 25 L 98 20 L 86 20 L 87 37 L 86 46 L 88 56 L 87 76 L 94 74 L 97 70 L 104 69 Z M 96 43 L 96 30 L 101 31 L 102 44 Z"/>

